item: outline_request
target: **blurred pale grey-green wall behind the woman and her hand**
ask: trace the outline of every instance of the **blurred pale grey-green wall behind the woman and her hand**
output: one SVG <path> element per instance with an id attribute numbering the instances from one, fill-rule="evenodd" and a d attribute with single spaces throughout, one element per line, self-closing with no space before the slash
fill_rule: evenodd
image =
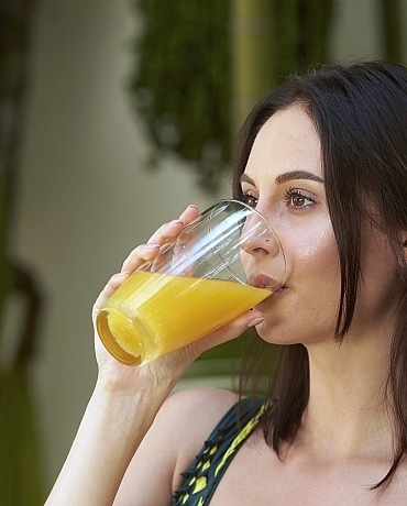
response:
<path id="1" fill-rule="evenodd" d="M 338 0 L 336 61 L 381 57 L 375 3 Z M 47 488 L 95 384 L 94 299 L 158 224 L 219 197 L 180 162 L 144 169 L 148 140 L 125 89 L 142 26 L 133 4 L 37 0 L 14 252 L 46 301 L 33 385 Z"/>

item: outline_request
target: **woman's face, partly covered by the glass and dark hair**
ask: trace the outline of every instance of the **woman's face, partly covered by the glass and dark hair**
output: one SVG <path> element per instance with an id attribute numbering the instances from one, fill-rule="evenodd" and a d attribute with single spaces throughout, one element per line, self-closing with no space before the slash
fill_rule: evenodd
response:
<path id="1" fill-rule="evenodd" d="M 258 334 L 270 342 L 332 341 L 340 299 L 337 243 L 328 212 L 320 141 L 299 107 L 277 111 L 258 132 L 241 177 L 245 200 L 273 226 L 286 255 L 282 289 L 261 302 L 265 312 Z M 275 258 L 274 258 L 275 261 Z M 246 272 L 266 285 L 273 255 L 253 243 Z M 362 233 L 362 283 L 352 331 L 375 329 L 391 306 L 394 262 L 385 237 L 370 226 Z"/>

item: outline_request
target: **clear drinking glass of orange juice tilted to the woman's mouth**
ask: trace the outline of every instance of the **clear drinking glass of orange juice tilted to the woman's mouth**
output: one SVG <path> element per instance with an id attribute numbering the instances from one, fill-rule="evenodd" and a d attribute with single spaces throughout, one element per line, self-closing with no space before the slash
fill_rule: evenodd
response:
<path id="1" fill-rule="evenodd" d="M 268 286 L 245 268 L 267 258 Z M 120 362 L 141 365 L 202 338 L 270 297 L 285 280 L 285 256 L 267 220 L 221 200 L 165 244 L 105 302 L 97 329 Z"/>

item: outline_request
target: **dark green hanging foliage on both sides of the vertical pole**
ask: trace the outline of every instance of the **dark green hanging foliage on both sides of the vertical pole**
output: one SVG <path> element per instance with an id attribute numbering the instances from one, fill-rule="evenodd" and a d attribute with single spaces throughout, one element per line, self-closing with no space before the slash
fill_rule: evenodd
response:
<path id="1" fill-rule="evenodd" d="M 305 62 L 327 61 L 332 0 L 268 0 L 270 87 Z M 153 141 L 151 166 L 167 152 L 193 162 L 198 183 L 211 191 L 230 161 L 232 135 L 230 0 L 140 0 L 144 33 L 131 92 Z M 258 7 L 250 6 L 251 11 Z M 258 11 L 262 12 L 262 11 Z M 240 20 L 238 20 L 239 22 Z M 244 22 L 244 20 L 243 20 Z M 263 79 L 258 76 L 258 79 Z M 256 81 L 253 76 L 252 82 Z"/>

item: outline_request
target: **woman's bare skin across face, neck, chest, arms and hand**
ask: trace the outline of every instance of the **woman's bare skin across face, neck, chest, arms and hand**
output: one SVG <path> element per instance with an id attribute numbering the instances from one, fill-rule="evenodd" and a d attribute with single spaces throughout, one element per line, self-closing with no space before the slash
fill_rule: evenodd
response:
<path id="1" fill-rule="evenodd" d="M 392 460 L 384 384 L 393 294 L 398 285 L 385 237 L 364 226 L 363 283 L 354 322 L 339 345 L 333 328 L 340 276 L 320 144 L 312 122 L 299 107 L 275 113 L 261 129 L 242 189 L 280 239 L 287 261 L 283 289 L 226 328 L 142 367 L 114 361 L 96 336 L 98 381 L 48 506 L 169 505 L 172 491 L 182 482 L 179 473 L 235 396 L 201 388 L 165 399 L 199 353 L 235 338 L 249 326 L 256 326 L 266 341 L 306 346 L 309 405 L 297 439 L 283 449 L 282 459 L 260 432 L 249 438 L 211 506 L 405 504 L 405 462 L 386 494 L 369 491 L 386 474 Z M 187 208 L 180 220 L 163 226 L 150 244 L 136 248 L 122 274 L 113 276 L 100 294 L 94 315 L 127 273 L 154 257 L 158 245 L 176 237 L 197 213 L 196 207 Z M 267 275 L 273 262 L 276 258 L 267 246 L 254 242 L 245 261 L 248 273 Z"/>

